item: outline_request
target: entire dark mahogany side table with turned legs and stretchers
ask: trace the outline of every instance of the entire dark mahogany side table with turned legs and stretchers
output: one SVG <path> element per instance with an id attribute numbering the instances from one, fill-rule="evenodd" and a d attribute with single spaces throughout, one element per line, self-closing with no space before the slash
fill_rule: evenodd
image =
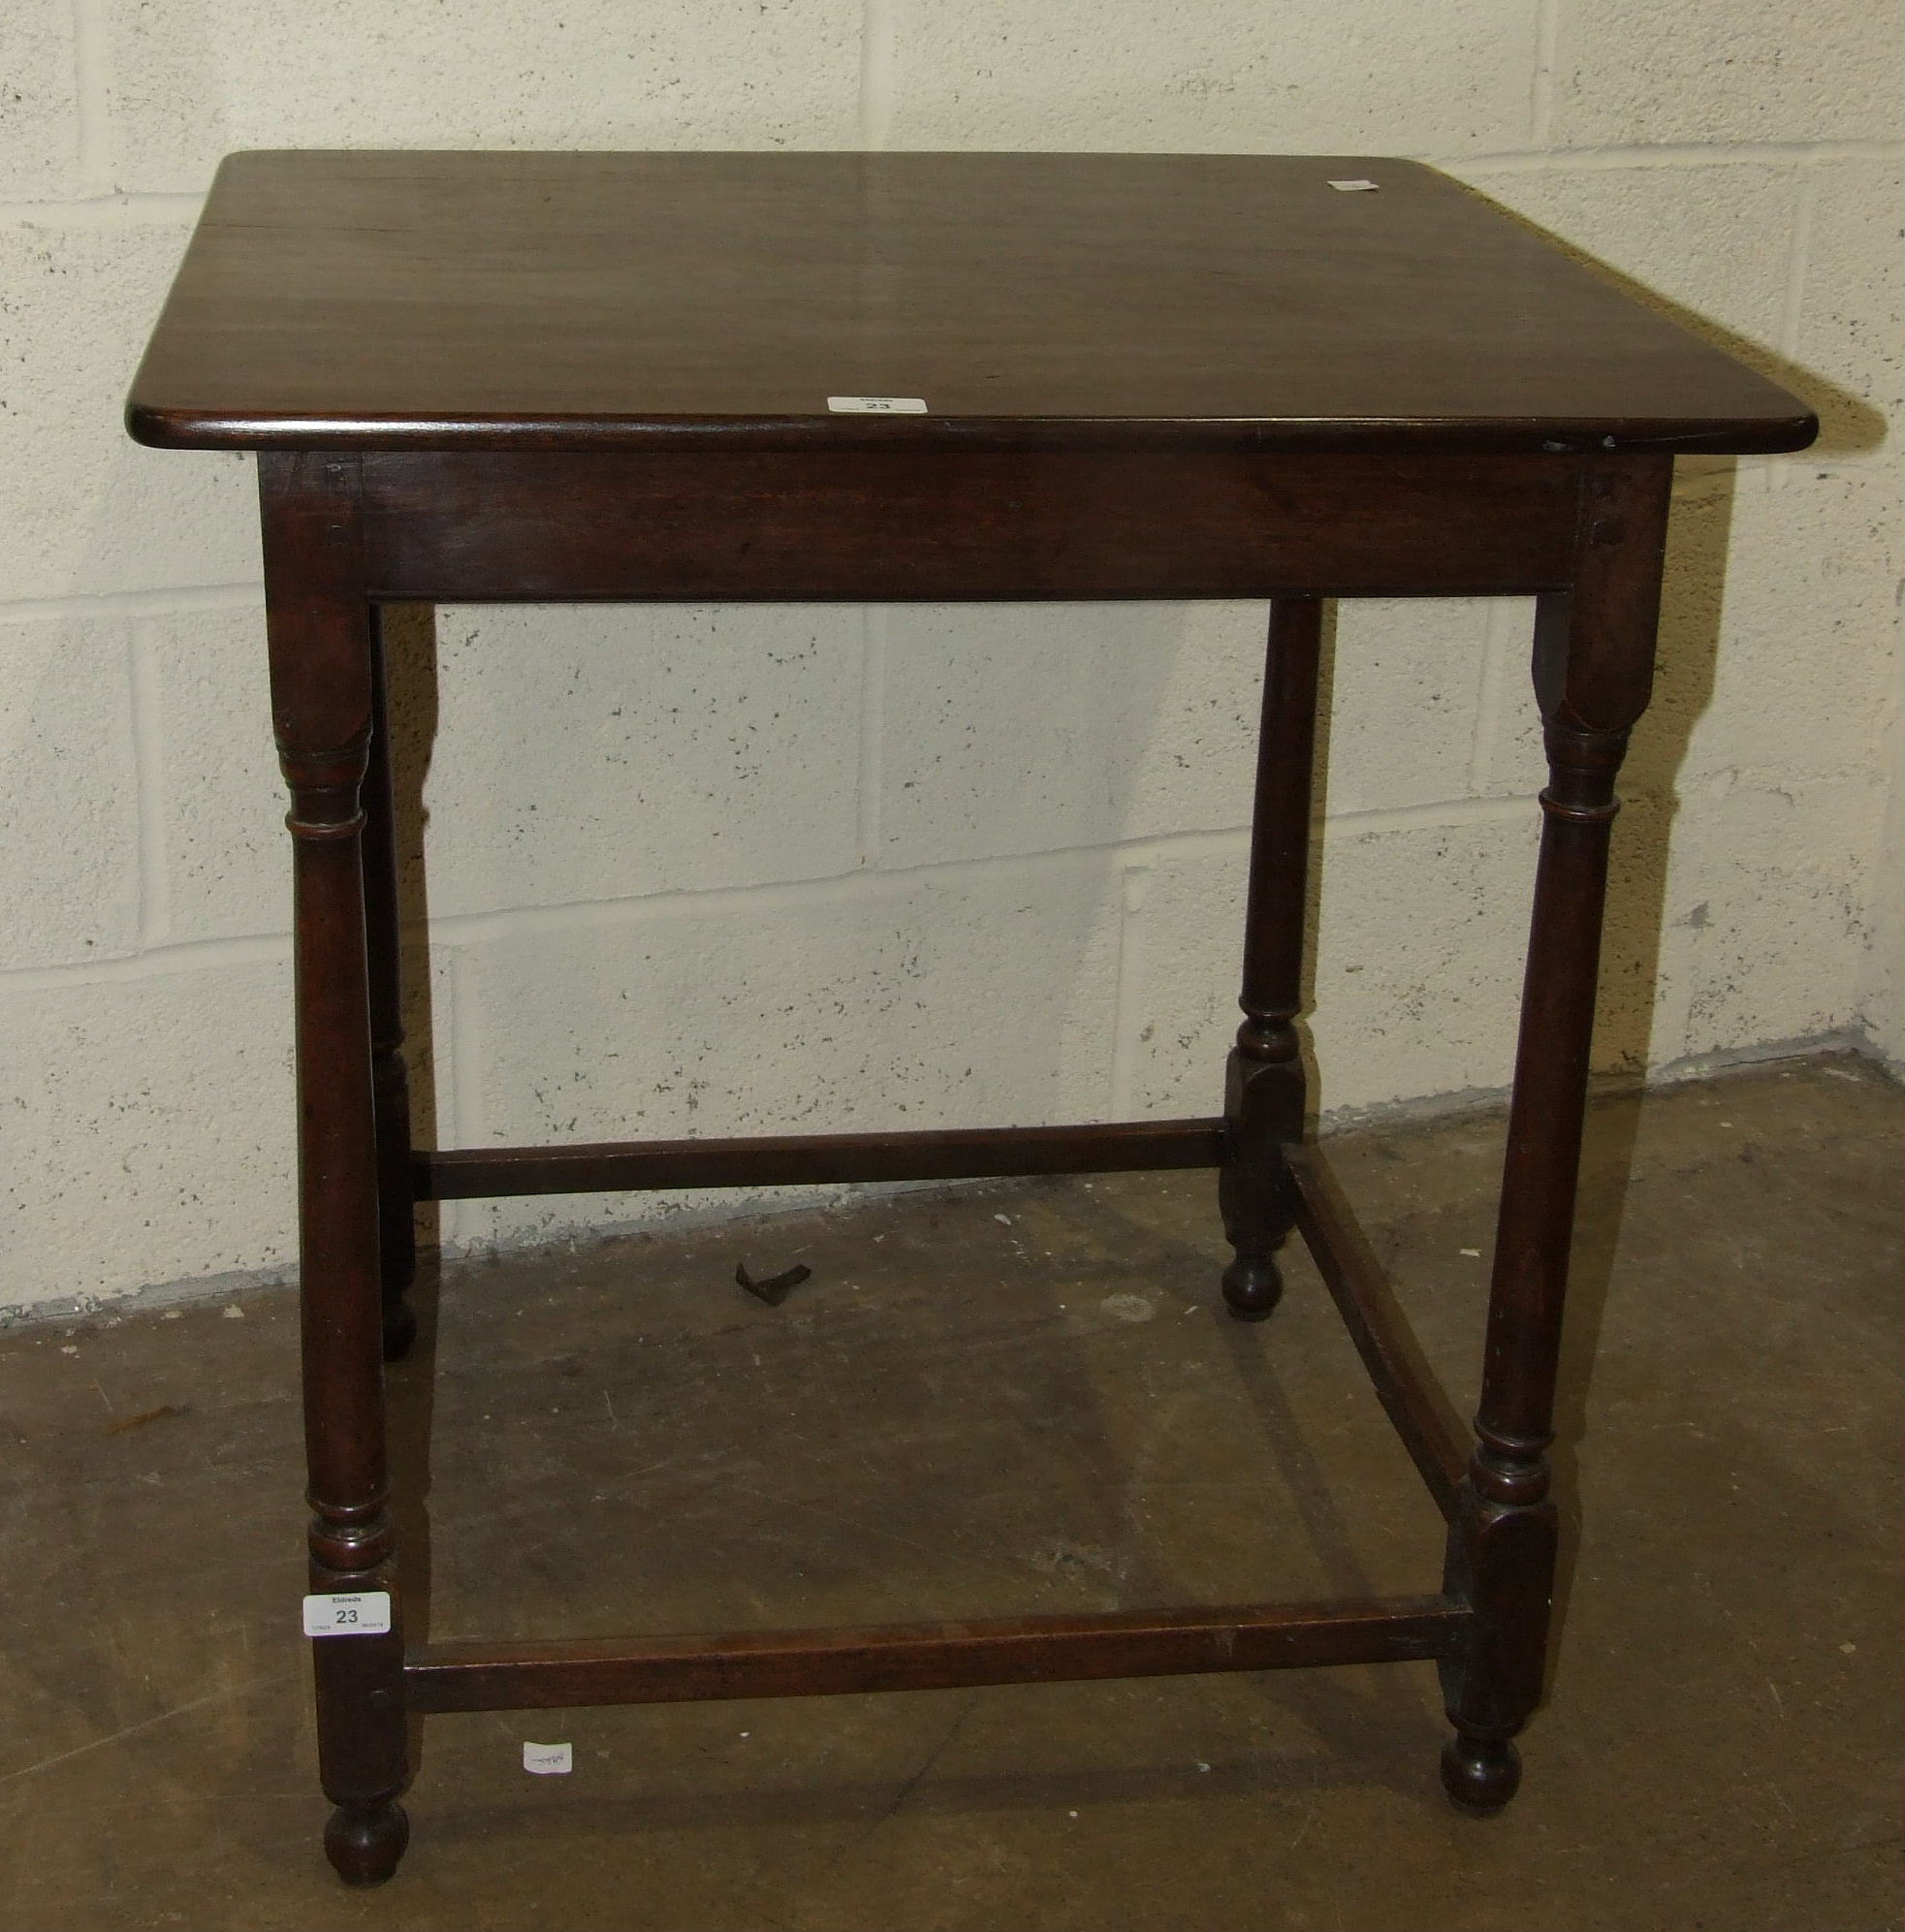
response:
<path id="1" fill-rule="evenodd" d="M 1405 1658 L 1441 1667 L 1449 1797 L 1499 1810 L 1542 1689 L 1613 779 L 1648 697 L 1673 458 L 1803 448 L 1806 408 L 1403 160 L 265 153 L 220 168 L 128 421 L 259 452 L 311 1590 L 319 1625 L 373 1625 L 313 1646 L 336 1870 L 396 1868 L 417 1712 Z M 1470 1443 L 1304 1146 L 1318 641 L 1327 597 L 1530 593 L 1551 777 Z M 412 1148 L 381 605 L 1113 597 L 1269 601 L 1221 1115 Z M 1242 1320 L 1269 1314 L 1302 1233 L 1449 1520 L 1439 1588 L 614 1642 L 375 1631 L 375 1592 L 400 1594 L 383 1358 L 413 1331 L 413 1202 L 1146 1167 L 1217 1171 Z"/>

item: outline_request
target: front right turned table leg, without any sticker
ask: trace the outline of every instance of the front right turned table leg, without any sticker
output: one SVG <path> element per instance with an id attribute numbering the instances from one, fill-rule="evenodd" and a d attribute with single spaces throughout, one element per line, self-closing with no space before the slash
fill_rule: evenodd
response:
<path id="1" fill-rule="evenodd" d="M 1648 699 L 1671 466 L 1606 462 L 1582 489 L 1577 576 L 1540 599 L 1534 682 L 1550 782 L 1495 1221 L 1476 1449 L 1449 1524 L 1445 1590 L 1466 1654 L 1441 1669 L 1451 1803 L 1488 1816 L 1521 1783 L 1513 1737 L 1542 1696 L 1555 1573 L 1553 1439 L 1561 1304 L 1600 966 L 1613 781 Z"/>

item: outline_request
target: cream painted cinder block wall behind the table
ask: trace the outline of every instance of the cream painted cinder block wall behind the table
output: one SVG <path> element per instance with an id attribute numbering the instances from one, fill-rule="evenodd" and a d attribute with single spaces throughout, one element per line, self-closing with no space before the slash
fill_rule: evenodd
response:
<path id="1" fill-rule="evenodd" d="M 556 17 L 560 14 L 560 19 Z M 10 0 L 0 1306 L 288 1265 L 286 854 L 253 477 L 120 400 L 236 147 L 1405 153 L 1820 410 L 1673 526 L 1604 1065 L 1899 1059 L 1890 0 Z M 441 1144 L 1209 1111 L 1264 612 L 448 609 Z M 1331 1111 L 1499 1088 L 1540 765 L 1521 605 L 1347 607 Z M 419 966 L 423 949 L 419 941 Z M 663 1204 L 667 1206 L 667 1204 Z M 469 1204 L 452 1242 L 638 1200 Z"/>

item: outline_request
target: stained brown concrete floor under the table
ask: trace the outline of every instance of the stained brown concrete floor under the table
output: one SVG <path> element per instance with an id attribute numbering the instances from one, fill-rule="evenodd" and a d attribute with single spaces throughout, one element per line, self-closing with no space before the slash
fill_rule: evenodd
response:
<path id="1" fill-rule="evenodd" d="M 1416 1663 L 456 1716 L 398 1878 L 346 1893 L 290 1296 L 15 1329 L 0 1924 L 1895 1926 L 1901 1113 L 1855 1061 L 1598 1107 L 1557 1671 L 1492 1822 L 1437 1793 Z M 1499 1142 L 1333 1142 L 1464 1406 Z M 1138 1175 L 458 1267 L 392 1378 L 429 1629 L 1432 1588 L 1434 1507 L 1308 1262 L 1242 1327 L 1221 1252 L 1208 1177 Z M 742 1258 L 813 1279 L 769 1310 Z"/>

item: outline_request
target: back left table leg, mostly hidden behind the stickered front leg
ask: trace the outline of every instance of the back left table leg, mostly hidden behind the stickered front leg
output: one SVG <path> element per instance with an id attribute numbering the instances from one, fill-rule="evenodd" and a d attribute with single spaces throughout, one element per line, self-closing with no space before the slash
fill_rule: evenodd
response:
<path id="1" fill-rule="evenodd" d="M 417 1279 L 415 1196 L 410 1182 L 410 1074 L 404 1066 L 404 970 L 398 951 L 396 823 L 390 810 L 390 715 L 383 628 L 371 618 L 371 744 L 363 775 L 363 923 L 371 980 L 371 1094 L 377 1105 L 377 1246 L 384 1360 L 417 1339 L 410 1287 Z"/>

